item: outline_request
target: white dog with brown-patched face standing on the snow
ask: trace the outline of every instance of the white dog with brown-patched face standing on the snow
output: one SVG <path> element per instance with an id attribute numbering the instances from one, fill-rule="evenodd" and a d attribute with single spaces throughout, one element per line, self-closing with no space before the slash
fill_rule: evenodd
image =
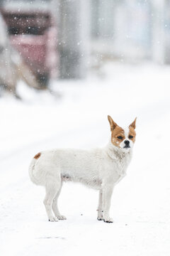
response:
<path id="1" fill-rule="evenodd" d="M 108 116 L 111 140 L 101 149 L 53 149 L 36 154 L 30 164 L 33 183 L 45 186 L 45 209 L 49 221 L 65 220 L 57 199 L 63 181 L 81 182 L 99 190 L 98 220 L 112 223 L 109 216 L 113 188 L 126 174 L 135 143 L 136 119 L 123 129 Z M 55 216 L 52 213 L 55 213 Z"/>

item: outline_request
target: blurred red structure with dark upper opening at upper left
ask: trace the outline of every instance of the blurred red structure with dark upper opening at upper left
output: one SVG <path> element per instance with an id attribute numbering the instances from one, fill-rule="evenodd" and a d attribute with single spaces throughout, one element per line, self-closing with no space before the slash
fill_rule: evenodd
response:
<path id="1" fill-rule="evenodd" d="M 22 55 L 42 87 L 57 76 L 57 28 L 50 11 L 1 9 L 11 45 Z"/>

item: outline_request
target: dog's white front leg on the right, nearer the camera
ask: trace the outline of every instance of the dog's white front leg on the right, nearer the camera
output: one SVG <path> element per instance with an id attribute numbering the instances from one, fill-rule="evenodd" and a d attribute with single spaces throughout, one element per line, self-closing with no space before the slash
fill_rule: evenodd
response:
<path id="1" fill-rule="evenodd" d="M 109 210 L 111 207 L 111 196 L 113 193 L 113 186 L 105 186 L 103 188 L 103 220 L 106 223 L 113 223 L 113 219 L 109 216 Z"/>

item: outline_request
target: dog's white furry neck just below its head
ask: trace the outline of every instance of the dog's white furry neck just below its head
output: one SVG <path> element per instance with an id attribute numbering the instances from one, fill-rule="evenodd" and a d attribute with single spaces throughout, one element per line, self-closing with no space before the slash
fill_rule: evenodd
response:
<path id="1" fill-rule="evenodd" d="M 111 159 L 119 159 L 120 161 L 123 161 L 123 159 L 131 158 L 132 149 L 130 149 L 128 152 L 123 151 L 123 149 L 114 146 L 110 139 L 110 141 L 106 145 L 106 153 L 109 157 L 111 157 Z"/>

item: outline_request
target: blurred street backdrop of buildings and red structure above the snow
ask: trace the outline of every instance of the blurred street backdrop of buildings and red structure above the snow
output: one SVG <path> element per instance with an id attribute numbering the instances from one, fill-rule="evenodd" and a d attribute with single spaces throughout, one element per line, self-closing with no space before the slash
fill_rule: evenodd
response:
<path id="1" fill-rule="evenodd" d="M 103 63 L 170 63 L 169 0 L 0 0 L 0 85 L 45 89 Z"/>

